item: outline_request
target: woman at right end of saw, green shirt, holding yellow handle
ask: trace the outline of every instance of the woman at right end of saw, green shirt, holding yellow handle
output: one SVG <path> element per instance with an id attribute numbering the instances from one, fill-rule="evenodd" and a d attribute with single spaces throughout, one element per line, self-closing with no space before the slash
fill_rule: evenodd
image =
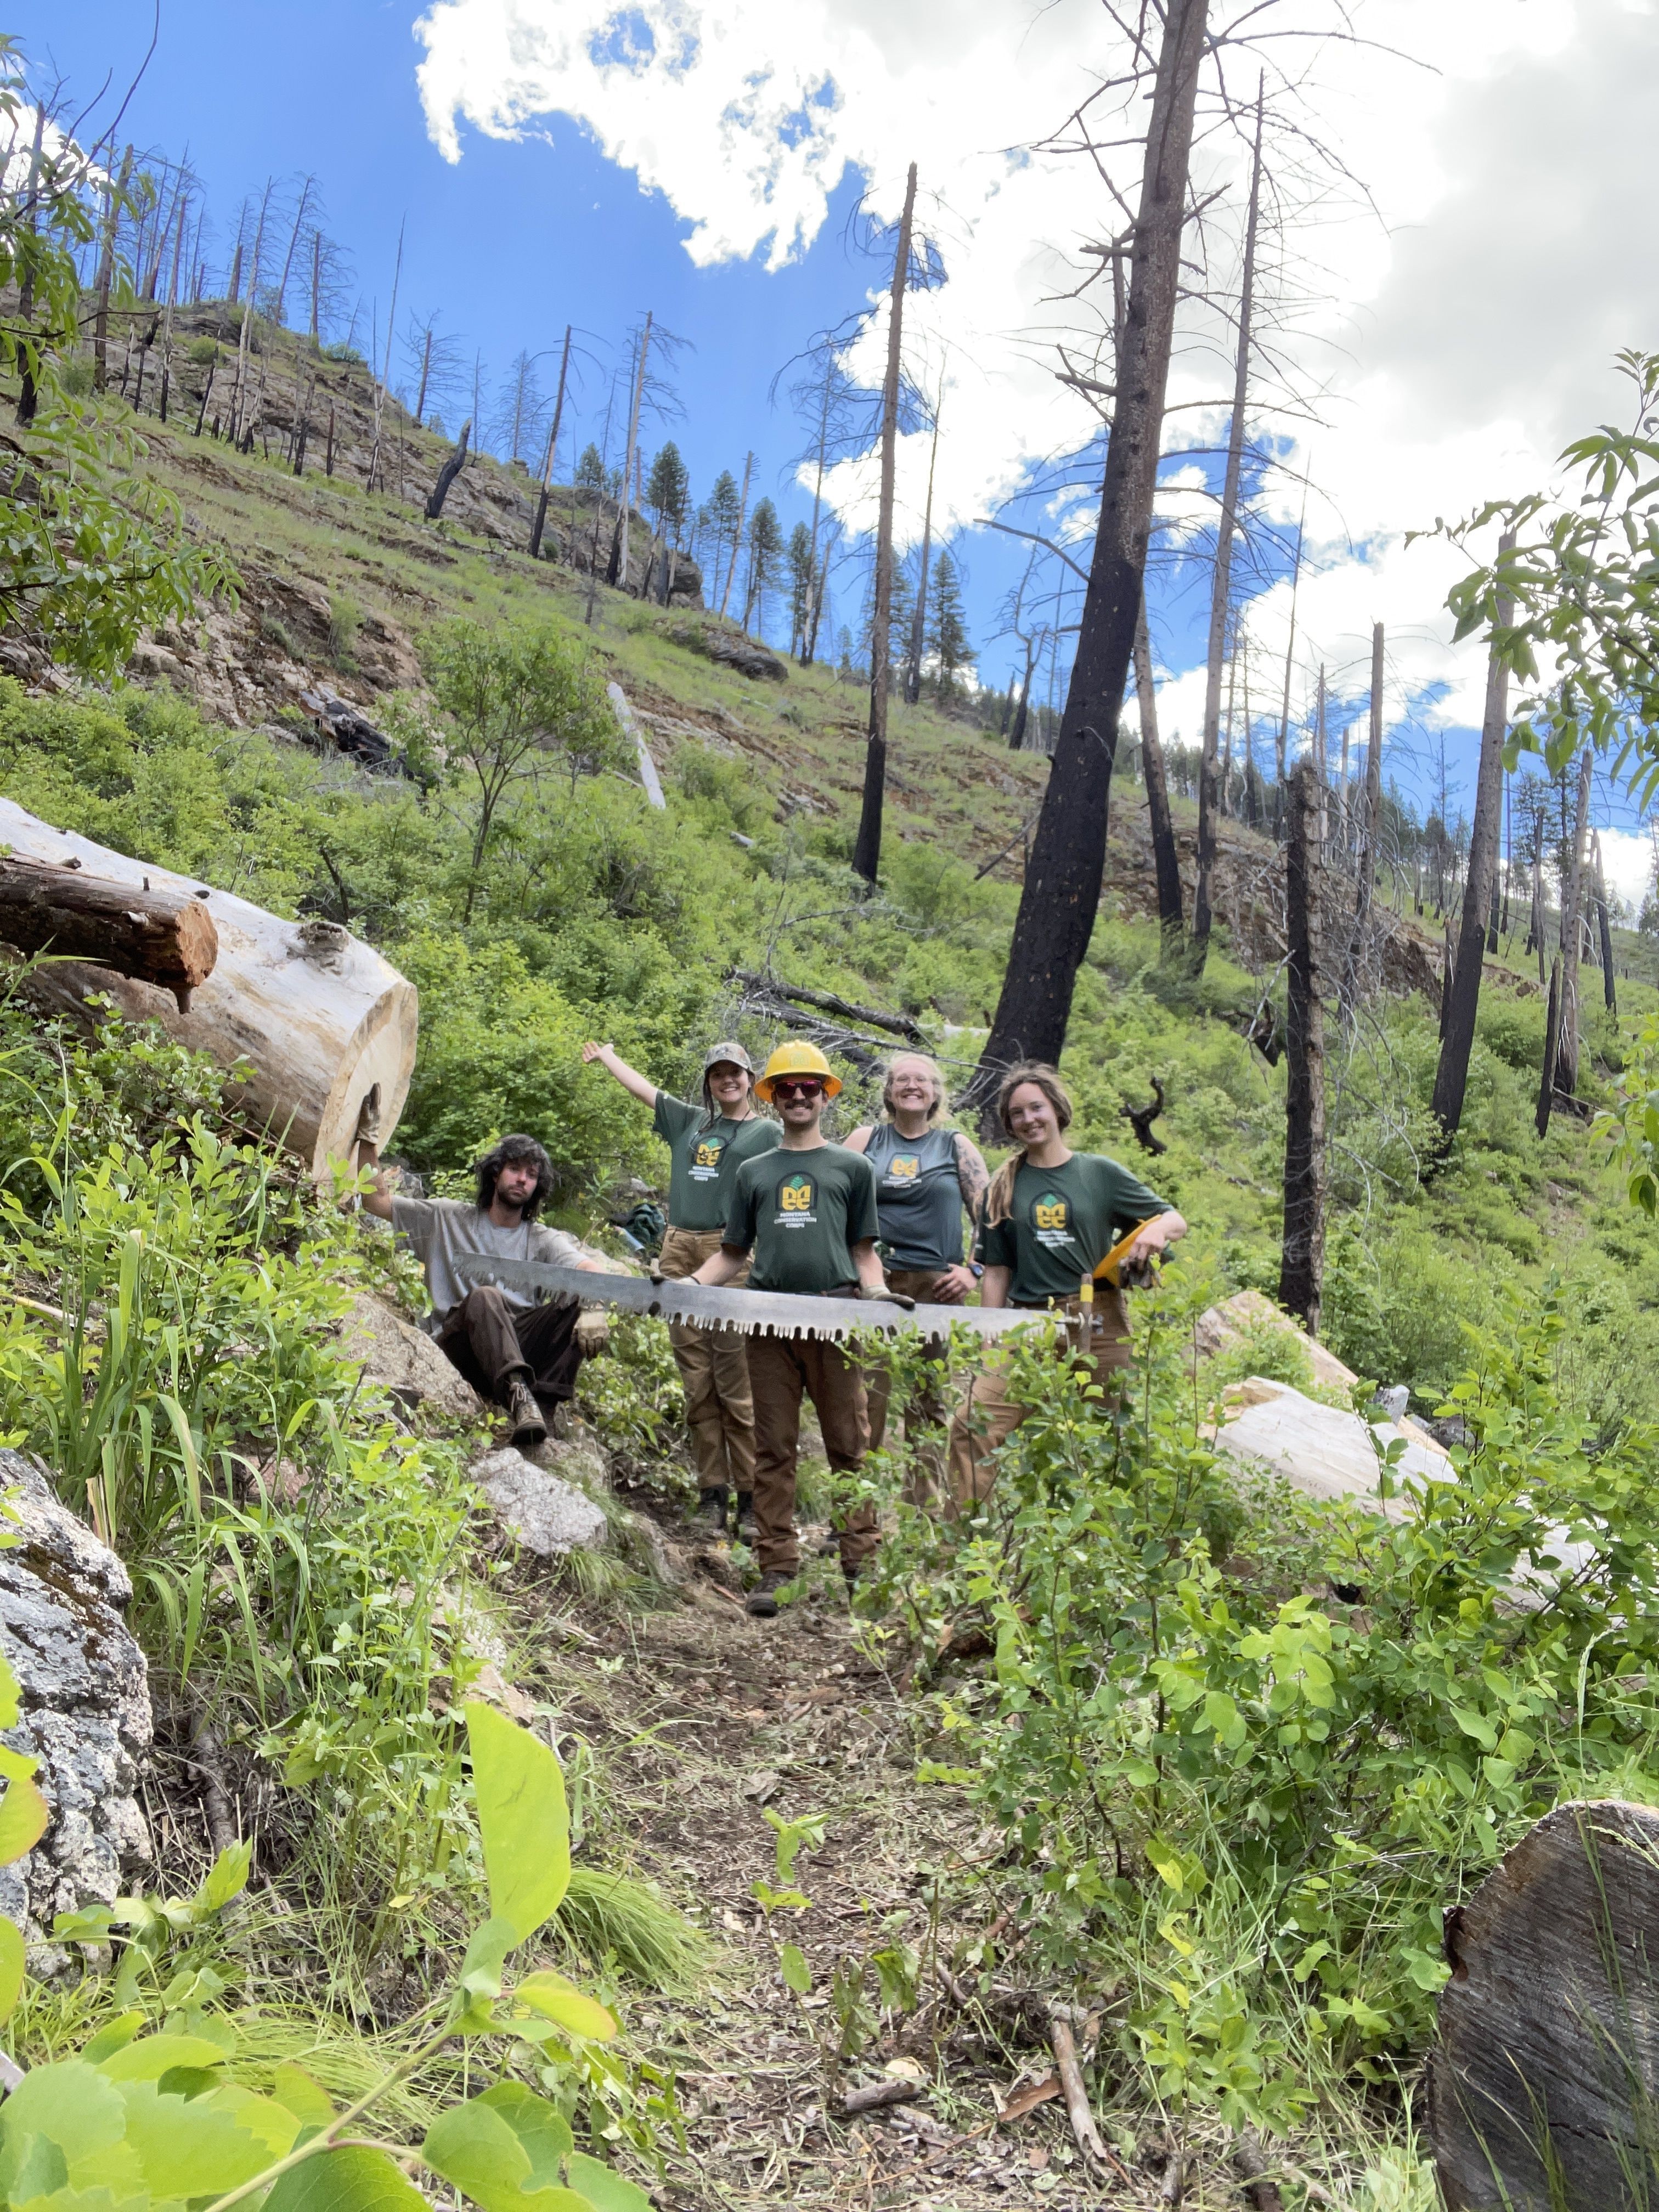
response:
<path id="1" fill-rule="evenodd" d="M 1066 1088 L 1044 1062 L 1026 1060 L 1002 1077 L 998 1119 L 1015 1150 L 984 1199 L 980 1305 L 1064 1316 L 1057 1356 L 1084 1360 L 1104 1378 L 1106 1369 L 1130 1363 L 1128 1312 L 1115 1283 L 1095 1283 L 1095 1267 L 1130 1230 L 1139 1237 L 1121 1265 L 1146 1265 L 1186 1237 L 1186 1221 L 1115 1159 L 1073 1152 L 1071 1115 Z M 1009 1396 L 1004 1365 L 991 1363 L 973 1378 L 951 1420 L 958 1513 L 991 1495 L 995 1453 L 1029 1411 Z"/>

